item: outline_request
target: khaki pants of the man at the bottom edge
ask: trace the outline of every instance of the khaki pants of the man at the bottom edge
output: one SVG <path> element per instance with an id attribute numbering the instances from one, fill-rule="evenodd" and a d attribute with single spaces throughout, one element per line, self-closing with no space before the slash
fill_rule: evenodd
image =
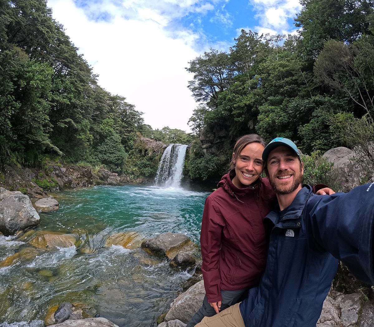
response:
<path id="1" fill-rule="evenodd" d="M 230 306 L 213 317 L 204 317 L 195 327 L 245 327 L 239 310 L 240 303 Z"/>

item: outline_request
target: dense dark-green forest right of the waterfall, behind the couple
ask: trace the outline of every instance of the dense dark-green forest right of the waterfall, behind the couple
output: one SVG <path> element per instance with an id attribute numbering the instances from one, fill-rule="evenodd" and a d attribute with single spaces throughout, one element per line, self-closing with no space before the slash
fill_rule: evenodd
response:
<path id="1" fill-rule="evenodd" d="M 224 173 L 234 142 L 248 133 L 290 138 L 314 155 L 353 147 L 360 133 L 374 140 L 374 1 L 301 4 L 296 35 L 242 30 L 228 52 L 189 62 L 199 103 L 189 123 L 200 136 L 191 177 Z"/>

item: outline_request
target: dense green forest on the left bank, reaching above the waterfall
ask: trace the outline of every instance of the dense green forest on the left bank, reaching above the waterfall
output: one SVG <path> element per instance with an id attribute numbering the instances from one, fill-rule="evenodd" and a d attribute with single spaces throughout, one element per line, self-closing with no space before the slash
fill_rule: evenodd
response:
<path id="1" fill-rule="evenodd" d="M 184 131 L 144 124 L 142 112 L 97 83 L 44 0 L 0 0 L 0 165 L 45 160 L 155 173 L 137 138 L 190 143 Z M 130 163 L 130 164 L 129 164 Z"/>

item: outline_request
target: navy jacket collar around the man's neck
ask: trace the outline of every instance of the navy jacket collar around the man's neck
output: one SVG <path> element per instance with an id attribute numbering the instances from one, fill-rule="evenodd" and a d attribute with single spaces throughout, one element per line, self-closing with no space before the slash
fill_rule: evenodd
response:
<path id="1" fill-rule="evenodd" d="M 270 212 L 266 218 L 270 219 L 274 225 L 278 224 L 279 221 L 282 220 L 299 218 L 311 193 L 312 186 L 303 184 L 303 188 L 298 191 L 294 201 L 292 201 L 292 203 L 286 209 L 282 210 L 282 219 L 280 217 L 281 212 L 279 211 L 279 207 L 278 210 L 273 210 Z"/>

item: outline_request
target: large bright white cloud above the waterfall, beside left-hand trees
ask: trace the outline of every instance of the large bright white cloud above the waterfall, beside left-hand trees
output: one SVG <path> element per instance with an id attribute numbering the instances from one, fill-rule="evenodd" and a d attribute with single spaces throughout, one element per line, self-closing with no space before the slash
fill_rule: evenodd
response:
<path id="1" fill-rule="evenodd" d="M 136 4 L 141 5 L 136 7 Z M 154 3 L 159 3 L 154 1 Z M 180 14 L 188 10 L 210 10 L 209 3 L 169 1 Z M 72 0 L 49 0 L 53 18 L 64 25 L 65 33 L 79 47 L 79 53 L 99 74 L 99 84 L 113 94 L 125 96 L 136 109 L 144 112 L 146 124 L 153 128 L 169 126 L 189 131 L 188 119 L 196 102 L 187 89 L 192 75 L 184 67 L 199 55 L 194 50 L 200 35 L 189 30 L 164 28 L 175 12 L 162 15 L 162 7 L 145 6 L 145 1 L 124 1 L 123 11 L 108 4 L 96 7 L 112 15 L 110 21 L 94 21 L 87 17 L 92 8 L 77 8 Z M 122 7 L 122 8 L 123 8 Z M 156 7 L 156 5 L 154 6 Z M 99 10 L 98 10 L 99 9 Z"/>

